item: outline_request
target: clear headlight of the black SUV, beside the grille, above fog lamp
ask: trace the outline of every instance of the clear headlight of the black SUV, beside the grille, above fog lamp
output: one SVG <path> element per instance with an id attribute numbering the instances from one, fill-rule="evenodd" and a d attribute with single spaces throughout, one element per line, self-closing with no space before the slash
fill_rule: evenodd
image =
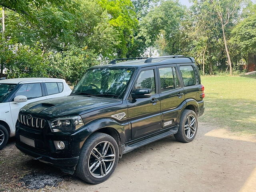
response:
<path id="1" fill-rule="evenodd" d="M 80 116 L 68 116 L 50 120 L 52 132 L 70 132 L 84 126 Z"/>

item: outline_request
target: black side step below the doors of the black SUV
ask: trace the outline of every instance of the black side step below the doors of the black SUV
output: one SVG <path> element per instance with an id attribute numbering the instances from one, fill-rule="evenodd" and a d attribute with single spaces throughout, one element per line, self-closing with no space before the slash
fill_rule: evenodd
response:
<path id="1" fill-rule="evenodd" d="M 128 152 L 130 152 L 130 151 L 132 151 L 132 150 L 134 150 L 136 148 L 139 148 L 141 146 L 144 146 L 146 144 L 152 143 L 154 141 L 157 141 L 157 140 L 160 140 L 160 139 L 165 138 L 167 136 L 170 136 L 172 134 L 175 134 L 176 132 L 177 131 L 169 130 L 167 132 L 164 132 L 162 134 L 159 134 L 159 135 L 156 135 L 154 137 L 148 138 L 146 140 L 140 141 L 138 143 L 127 145 L 127 146 L 125 146 L 123 154 L 128 153 Z"/>

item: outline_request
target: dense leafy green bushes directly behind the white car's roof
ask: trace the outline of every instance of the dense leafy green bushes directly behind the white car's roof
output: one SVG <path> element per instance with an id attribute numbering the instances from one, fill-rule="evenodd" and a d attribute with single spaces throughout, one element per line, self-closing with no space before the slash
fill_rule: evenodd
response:
<path id="1" fill-rule="evenodd" d="M 70 46 L 65 51 L 49 53 L 44 53 L 39 44 L 33 47 L 9 44 L 6 47 L 0 59 L 7 68 L 8 78 L 63 78 L 74 85 L 88 68 L 100 64 L 95 51 L 88 50 L 87 46 Z"/>

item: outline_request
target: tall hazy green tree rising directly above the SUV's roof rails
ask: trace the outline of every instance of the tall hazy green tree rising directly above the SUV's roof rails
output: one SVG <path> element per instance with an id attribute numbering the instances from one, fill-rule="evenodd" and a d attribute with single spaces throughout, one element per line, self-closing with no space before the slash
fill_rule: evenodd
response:
<path id="1" fill-rule="evenodd" d="M 180 24 L 184 12 L 185 7 L 178 1 L 162 1 L 141 20 L 142 28 L 139 36 L 145 37 L 148 47 L 158 46 L 160 51 L 169 54 L 179 52 Z M 158 39 L 160 41 L 157 41 Z"/>

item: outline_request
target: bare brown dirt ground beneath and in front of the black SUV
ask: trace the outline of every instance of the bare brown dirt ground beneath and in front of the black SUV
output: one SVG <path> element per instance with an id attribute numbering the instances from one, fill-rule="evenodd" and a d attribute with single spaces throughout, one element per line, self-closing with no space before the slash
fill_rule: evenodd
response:
<path id="1" fill-rule="evenodd" d="M 124 154 L 97 185 L 30 160 L 11 140 L 0 151 L 0 191 L 256 192 L 256 138 L 200 123 L 193 142 L 171 136 Z"/>

